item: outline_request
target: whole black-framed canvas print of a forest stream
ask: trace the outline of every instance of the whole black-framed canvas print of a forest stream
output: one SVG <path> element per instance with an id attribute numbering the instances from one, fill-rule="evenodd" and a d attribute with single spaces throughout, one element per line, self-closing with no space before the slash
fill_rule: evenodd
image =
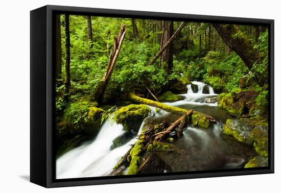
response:
<path id="1" fill-rule="evenodd" d="M 31 11 L 30 180 L 274 173 L 274 20 Z"/>

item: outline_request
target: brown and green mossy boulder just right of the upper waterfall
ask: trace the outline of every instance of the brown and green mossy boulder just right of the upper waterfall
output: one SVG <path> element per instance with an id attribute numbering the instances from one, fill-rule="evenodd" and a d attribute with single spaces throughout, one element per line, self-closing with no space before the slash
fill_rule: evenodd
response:
<path id="1" fill-rule="evenodd" d="M 218 107 L 225 109 L 229 114 L 241 116 L 249 114 L 256 108 L 255 98 L 259 95 L 255 91 L 240 91 L 232 93 L 222 93 L 219 95 Z"/>

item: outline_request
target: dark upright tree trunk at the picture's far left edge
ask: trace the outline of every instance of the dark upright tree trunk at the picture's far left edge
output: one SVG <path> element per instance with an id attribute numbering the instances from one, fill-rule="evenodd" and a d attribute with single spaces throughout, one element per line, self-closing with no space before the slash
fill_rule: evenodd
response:
<path id="1" fill-rule="evenodd" d="M 60 23 L 60 14 L 56 14 L 56 78 L 61 79 L 61 23 Z"/>

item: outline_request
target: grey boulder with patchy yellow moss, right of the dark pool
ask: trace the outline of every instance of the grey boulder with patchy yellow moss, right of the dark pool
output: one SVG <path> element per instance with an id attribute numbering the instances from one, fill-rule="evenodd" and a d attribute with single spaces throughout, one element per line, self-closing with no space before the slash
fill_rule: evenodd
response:
<path id="1" fill-rule="evenodd" d="M 252 130 L 253 126 L 243 119 L 229 118 L 226 120 L 222 132 L 226 135 L 232 135 L 241 142 L 252 144 Z"/>

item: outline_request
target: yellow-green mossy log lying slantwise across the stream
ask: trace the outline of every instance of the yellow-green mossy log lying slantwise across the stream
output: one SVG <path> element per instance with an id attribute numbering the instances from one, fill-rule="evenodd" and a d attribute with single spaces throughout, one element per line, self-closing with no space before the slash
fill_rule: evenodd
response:
<path id="1" fill-rule="evenodd" d="M 179 107 L 172 107 L 172 106 L 169 106 L 169 105 L 166 105 L 166 104 L 163 104 L 163 103 L 158 103 L 156 101 L 141 98 L 141 97 L 137 96 L 134 92 L 129 93 L 129 98 L 130 98 L 130 100 L 132 100 L 134 102 L 143 103 L 143 104 L 146 104 L 146 105 L 157 107 L 157 108 L 160 108 L 160 109 L 172 112 L 172 113 L 185 114 L 185 113 L 189 112 L 189 110 L 186 110 L 186 109 L 182 109 L 182 108 L 179 108 Z M 194 112 L 196 112 L 196 111 L 194 111 Z M 198 112 L 198 113 L 200 113 L 200 112 Z M 204 113 L 200 113 L 200 114 L 205 116 L 208 119 L 209 122 L 213 122 L 213 123 L 217 122 L 217 120 L 215 118 L 213 118 L 212 116 L 210 116 L 208 114 L 204 114 Z"/>

